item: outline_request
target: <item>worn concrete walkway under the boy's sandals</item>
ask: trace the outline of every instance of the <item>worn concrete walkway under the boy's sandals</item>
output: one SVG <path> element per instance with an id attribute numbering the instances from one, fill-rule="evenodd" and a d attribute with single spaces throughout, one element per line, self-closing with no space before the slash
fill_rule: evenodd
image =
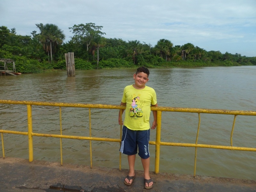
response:
<path id="1" fill-rule="evenodd" d="M 154 172 L 154 187 L 145 189 L 142 171 L 136 172 L 131 186 L 124 185 L 126 174 L 127 170 L 1 158 L 0 192 L 256 192 L 255 180 Z"/>

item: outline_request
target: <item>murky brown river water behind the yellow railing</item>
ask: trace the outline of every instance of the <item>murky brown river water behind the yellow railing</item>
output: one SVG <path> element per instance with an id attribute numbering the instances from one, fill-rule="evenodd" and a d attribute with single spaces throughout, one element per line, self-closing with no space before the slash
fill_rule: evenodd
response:
<path id="1" fill-rule="evenodd" d="M 134 83 L 134 69 L 76 70 L 21 76 L 0 76 L 0 99 L 119 105 L 123 89 Z M 254 110 L 256 67 L 150 69 L 148 86 L 157 93 L 159 106 Z M 88 109 L 61 108 L 62 134 L 89 136 Z M 118 111 L 91 109 L 92 136 L 120 138 Z M 59 108 L 32 106 L 33 132 L 60 134 Z M 230 145 L 234 116 L 201 114 L 199 144 Z M 27 131 L 27 107 L 0 105 L 1 129 Z M 164 142 L 195 143 L 198 114 L 163 112 Z M 255 147 L 255 116 L 237 116 L 233 146 Z M 156 132 L 151 131 L 151 140 Z M 63 163 L 90 164 L 89 142 L 62 139 Z M 28 158 L 27 136 L 4 134 L 6 156 Z M 33 137 L 34 159 L 60 161 L 60 139 Z M 92 141 L 93 166 L 119 167 L 119 143 Z M 150 146 L 154 171 L 154 146 Z M 193 174 L 195 148 L 161 146 L 160 172 Z M 122 168 L 127 169 L 122 156 Z M 196 174 L 256 179 L 255 152 L 197 149 Z M 136 169 L 141 170 L 140 159 Z"/>

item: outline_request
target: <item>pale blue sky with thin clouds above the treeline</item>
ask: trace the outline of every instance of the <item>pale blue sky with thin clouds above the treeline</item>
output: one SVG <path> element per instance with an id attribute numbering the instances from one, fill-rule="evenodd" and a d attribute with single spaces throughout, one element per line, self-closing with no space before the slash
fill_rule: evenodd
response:
<path id="1" fill-rule="evenodd" d="M 35 24 L 95 23 L 106 38 L 191 43 L 206 51 L 256 56 L 256 0 L 0 0 L 0 26 L 31 35 Z"/>

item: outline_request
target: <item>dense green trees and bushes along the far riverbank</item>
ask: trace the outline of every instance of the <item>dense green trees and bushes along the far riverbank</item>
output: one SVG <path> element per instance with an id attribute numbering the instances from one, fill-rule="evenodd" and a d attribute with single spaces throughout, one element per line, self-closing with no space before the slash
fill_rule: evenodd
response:
<path id="1" fill-rule="evenodd" d="M 58 26 L 40 23 L 36 27 L 39 33 L 32 31 L 31 36 L 16 35 L 15 28 L 0 27 L 0 58 L 14 60 L 18 72 L 65 70 L 64 54 L 68 52 L 74 52 L 76 69 L 256 65 L 256 57 L 207 52 L 191 43 L 173 46 L 170 40 L 160 39 L 152 46 L 139 40 L 126 42 L 120 38 L 105 38 L 103 27 L 94 23 L 70 27 L 74 36 L 66 43 Z"/>

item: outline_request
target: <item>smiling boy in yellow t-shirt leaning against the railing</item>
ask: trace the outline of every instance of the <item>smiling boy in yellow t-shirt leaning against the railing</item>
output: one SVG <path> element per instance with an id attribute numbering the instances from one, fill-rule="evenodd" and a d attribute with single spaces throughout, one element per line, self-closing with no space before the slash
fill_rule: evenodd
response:
<path id="1" fill-rule="evenodd" d="M 137 148 L 144 169 L 144 187 L 153 187 L 153 181 L 149 176 L 149 151 L 148 142 L 150 135 L 150 106 L 157 106 L 156 92 L 146 86 L 149 70 L 145 67 L 137 68 L 133 75 L 134 84 L 124 88 L 121 105 L 125 105 L 125 118 L 122 122 L 124 110 L 119 111 L 118 123 L 123 124 L 123 135 L 120 152 L 128 155 L 129 173 L 124 184 L 131 185 L 135 178 L 134 164 Z M 121 113 L 121 114 L 120 114 Z M 151 129 L 156 128 L 156 111 L 153 111 L 154 121 Z"/>

